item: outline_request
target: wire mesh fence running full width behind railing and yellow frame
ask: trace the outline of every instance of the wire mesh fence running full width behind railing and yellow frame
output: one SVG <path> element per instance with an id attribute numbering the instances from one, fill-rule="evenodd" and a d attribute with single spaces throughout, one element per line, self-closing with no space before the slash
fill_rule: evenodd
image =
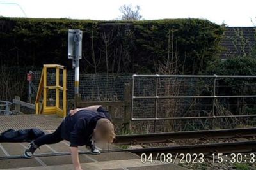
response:
<path id="1" fill-rule="evenodd" d="M 28 94 L 28 82 L 26 73 L 28 68 L 1 69 L 1 99 L 11 101 L 15 95 Z M 41 69 L 32 71 L 33 84 L 38 87 Z M 62 85 L 60 73 L 60 85 Z M 47 81 L 49 85 L 56 83 L 56 73 L 49 70 Z M 132 83 L 132 74 L 80 74 L 79 92 L 83 101 L 123 101 L 125 83 Z M 134 83 L 134 96 L 212 96 L 214 94 L 214 78 L 140 78 Z M 255 95 L 256 78 L 217 78 L 215 95 Z M 74 72 L 67 73 L 67 107 L 73 107 L 74 103 Z M 7 91 L 7 92 L 6 92 Z M 6 94 L 12 94 L 6 98 Z M 32 96 L 35 101 L 36 92 Z M 10 98 L 10 99 L 9 99 Z M 62 94 L 60 94 L 62 98 Z M 47 104 L 54 106 L 55 91 L 49 92 Z M 213 98 L 172 98 L 172 99 L 134 99 L 134 118 L 154 118 L 157 106 L 157 117 L 202 117 L 212 116 Z M 60 101 L 60 103 L 62 103 Z M 214 115 L 253 115 L 256 113 L 255 97 L 225 97 L 215 99 Z M 123 112 L 116 109 L 115 117 L 121 117 Z M 27 111 L 31 112 L 31 111 Z M 254 117 L 237 118 L 195 118 L 185 120 L 148 120 L 132 122 L 131 131 L 154 132 L 156 124 L 157 132 L 192 131 L 200 129 L 223 129 L 234 127 L 255 126 Z"/>

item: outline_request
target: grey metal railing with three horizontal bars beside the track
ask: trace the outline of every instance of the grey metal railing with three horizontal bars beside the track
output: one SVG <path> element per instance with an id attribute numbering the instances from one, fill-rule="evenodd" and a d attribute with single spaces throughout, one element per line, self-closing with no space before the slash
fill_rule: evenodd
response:
<path id="1" fill-rule="evenodd" d="M 156 78 L 156 92 L 155 96 L 134 96 L 134 82 L 136 77 L 143 78 Z M 212 96 L 158 96 L 158 81 L 159 78 L 214 78 L 213 84 L 213 94 Z M 156 121 L 157 120 L 182 120 L 182 119 L 198 119 L 198 118 L 232 118 L 232 117 L 256 117 L 256 114 L 250 115 L 215 115 L 215 99 L 219 98 L 230 98 L 230 97 L 256 97 L 256 94 L 253 95 L 235 95 L 235 96 L 217 96 L 216 95 L 216 80 L 217 78 L 256 78 L 256 76 L 218 76 L 218 75 L 132 75 L 132 102 L 131 102 L 131 120 L 155 120 L 155 132 L 156 132 Z M 213 99 L 212 102 L 212 115 L 211 116 L 198 116 L 198 117 L 157 117 L 157 100 L 158 99 L 185 99 L 185 98 L 210 98 Z M 152 118 L 134 118 L 134 99 L 155 99 L 155 110 L 154 117 Z"/>

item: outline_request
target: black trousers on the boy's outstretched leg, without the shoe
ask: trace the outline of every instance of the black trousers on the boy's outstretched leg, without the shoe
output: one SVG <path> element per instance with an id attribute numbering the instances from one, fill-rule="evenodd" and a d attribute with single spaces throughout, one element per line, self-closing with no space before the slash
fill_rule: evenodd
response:
<path id="1" fill-rule="evenodd" d="M 61 127 L 63 122 L 58 126 L 56 131 L 54 131 L 52 134 L 45 134 L 44 136 L 41 136 L 37 139 L 35 139 L 34 143 L 36 146 L 42 146 L 44 144 L 53 144 L 53 143 L 59 143 L 60 141 L 63 141 L 64 139 L 61 137 Z"/>

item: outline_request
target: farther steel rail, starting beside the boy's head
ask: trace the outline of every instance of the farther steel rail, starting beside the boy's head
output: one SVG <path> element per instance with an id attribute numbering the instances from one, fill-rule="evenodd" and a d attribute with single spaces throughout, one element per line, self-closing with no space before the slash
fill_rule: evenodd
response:
<path id="1" fill-rule="evenodd" d="M 132 143 L 163 143 L 170 139 L 199 139 L 199 138 L 236 138 L 236 137 L 256 136 L 256 127 L 219 129 L 207 131 L 189 132 L 168 132 L 157 134 L 132 134 L 116 136 L 115 145 L 131 145 Z"/>

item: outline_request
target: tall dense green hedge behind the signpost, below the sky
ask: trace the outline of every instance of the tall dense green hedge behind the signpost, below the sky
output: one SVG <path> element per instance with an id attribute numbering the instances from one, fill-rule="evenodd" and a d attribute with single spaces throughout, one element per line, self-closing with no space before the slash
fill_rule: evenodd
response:
<path id="1" fill-rule="evenodd" d="M 208 20 L 95 21 L 0 18 L 0 66 L 37 66 L 67 59 L 68 29 L 83 30 L 81 69 L 88 73 L 152 73 L 175 52 L 180 70 L 196 74 L 211 66 L 220 48 L 220 25 Z M 170 34 L 172 32 L 172 35 Z M 168 42 L 172 36 L 172 43 Z"/>

